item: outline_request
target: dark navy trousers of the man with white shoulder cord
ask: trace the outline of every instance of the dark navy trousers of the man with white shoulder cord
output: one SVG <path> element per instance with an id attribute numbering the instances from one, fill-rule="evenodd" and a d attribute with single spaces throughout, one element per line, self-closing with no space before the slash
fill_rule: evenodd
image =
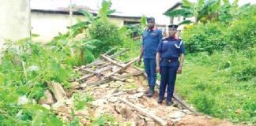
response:
<path id="1" fill-rule="evenodd" d="M 159 100 L 164 100 L 164 93 L 167 87 L 167 101 L 171 102 L 171 98 L 175 88 L 175 80 L 177 76 L 178 67 L 176 66 L 160 66 L 160 91 Z"/>

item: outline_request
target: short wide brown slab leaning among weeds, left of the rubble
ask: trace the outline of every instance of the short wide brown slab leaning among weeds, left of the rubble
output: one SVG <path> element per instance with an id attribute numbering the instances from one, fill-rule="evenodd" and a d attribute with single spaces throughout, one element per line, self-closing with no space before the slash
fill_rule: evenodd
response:
<path id="1" fill-rule="evenodd" d="M 50 90 L 53 92 L 57 101 L 62 101 L 66 97 L 66 92 L 59 83 L 51 82 L 47 83 Z"/>

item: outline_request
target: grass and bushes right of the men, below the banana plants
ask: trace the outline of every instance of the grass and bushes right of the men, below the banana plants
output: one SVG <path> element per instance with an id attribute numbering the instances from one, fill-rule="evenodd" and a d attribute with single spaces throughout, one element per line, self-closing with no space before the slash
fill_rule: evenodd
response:
<path id="1" fill-rule="evenodd" d="M 177 90 L 200 112 L 256 123 L 255 13 L 247 6 L 230 24 L 209 21 L 183 31 L 188 54 Z"/>

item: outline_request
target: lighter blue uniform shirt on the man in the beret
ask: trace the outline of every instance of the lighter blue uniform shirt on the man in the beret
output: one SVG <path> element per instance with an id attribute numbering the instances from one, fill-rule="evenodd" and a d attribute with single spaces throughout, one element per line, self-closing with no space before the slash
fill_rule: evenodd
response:
<path id="1" fill-rule="evenodd" d="M 159 29 L 153 28 L 144 31 L 142 37 L 144 58 L 156 58 L 156 51 L 162 38 L 162 31 Z"/>

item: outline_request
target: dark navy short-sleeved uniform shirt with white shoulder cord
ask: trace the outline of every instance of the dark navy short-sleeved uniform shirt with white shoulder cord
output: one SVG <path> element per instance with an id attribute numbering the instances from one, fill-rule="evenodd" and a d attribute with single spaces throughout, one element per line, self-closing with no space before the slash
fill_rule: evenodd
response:
<path id="1" fill-rule="evenodd" d="M 157 52 L 161 58 L 178 58 L 185 53 L 182 39 L 164 38 L 158 46 Z"/>

